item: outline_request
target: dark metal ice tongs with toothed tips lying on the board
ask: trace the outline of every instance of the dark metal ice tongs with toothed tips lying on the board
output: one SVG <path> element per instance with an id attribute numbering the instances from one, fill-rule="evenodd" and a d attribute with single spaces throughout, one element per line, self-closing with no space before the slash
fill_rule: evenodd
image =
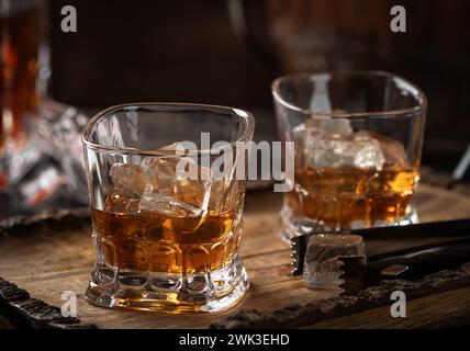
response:
<path id="1" fill-rule="evenodd" d="M 455 269 L 470 261 L 470 219 L 350 230 L 366 245 L 371 240 L 436 239 L 438 241 L 365 257 L 340 257 L 346 291 L 358 291 L 385 279 L 416 280 L 440 270 Z M 292 274 L 303 272 L 307 234 L 291 239 Z"/>

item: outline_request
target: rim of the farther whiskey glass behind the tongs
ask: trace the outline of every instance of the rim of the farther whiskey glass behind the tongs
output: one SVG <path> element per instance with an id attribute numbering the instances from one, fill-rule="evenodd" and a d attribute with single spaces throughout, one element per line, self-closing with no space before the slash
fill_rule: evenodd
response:
<path id="1" fill-rule="evenodd" d="M 303 109 L 300 106 L 296 106 L 282 98 L 280 93 L 280 84 L 286 81 L 292 81 L 292 80 L 299 80 L 304 78 L 311 78 L 311 79 L 317 79 L 325 76 L 329 76 L 332 78 L 335 77 L 388 77 L 388 78 L 394 78 L 398 79 L 402 86 L 410 92 L 413 93 L 413 95 L 417 100 L 417 104 L 412 107 L 407 109 L 394 109 L 394 110 L 387 110 L 387 111 L 365 111 L 365 112 L 332 112 L 332 113 L 325 113 L 325 112 L 317 112 L 311 109 Z M 294 75 L 287 75 L 279 77 L 275 79 L 271 83 L 271 92 L 275 97 L 275 100 L 282 104 L 284 107 L 290 109 L 292 111 L 301 112 L 304 114 L 314 114 L 317 117 L 340 117 L 340 118 L 361 118 L 361 117 L 390 117 L 390 116 L 396 116 L 396 115 L 412 115 L 417 112 L 423 112 L 427 107 L 427 98 L 426 94 L 423 92 L 423 90 L 417 87 L 416 84 L 412 83 L 410 80 L 401 77 L 400 75 L 383 71 L 383 70 L 351 70 L 351 71 L 325 71 L 325 72 L 318 72 L 318 73 L 309 73 L 309 72 L 302 72 L 302 73 L 294 73 Z"/>

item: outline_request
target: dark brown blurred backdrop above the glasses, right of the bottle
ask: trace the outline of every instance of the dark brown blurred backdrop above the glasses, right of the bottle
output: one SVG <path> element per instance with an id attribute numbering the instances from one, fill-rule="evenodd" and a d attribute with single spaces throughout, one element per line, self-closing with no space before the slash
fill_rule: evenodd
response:
<path id="1" fill-rule="evenodd" d="M 60 9 L 76 7 L 78 32 Z M 245 107 L 273 135 L 273 78 L 296 71 L 382 69 L 429 100 L 424 163 L 451 171 L 470 143 L 466 0 L 51 0 L 52 95 L 94 111 L 136 101 Z M 273 136 L 272 136 L 273 137 Z"/>

